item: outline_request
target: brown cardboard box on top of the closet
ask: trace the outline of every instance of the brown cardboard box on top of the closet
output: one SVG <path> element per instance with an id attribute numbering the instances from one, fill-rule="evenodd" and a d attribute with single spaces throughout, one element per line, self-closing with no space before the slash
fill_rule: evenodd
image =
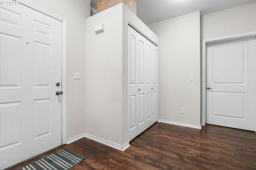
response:
<path id="1" fill-rule="evenodd" d="M 97 0 L 97 12 L 101 12 L 120 3 L 124 3 L 136 15 L 137 0 Z"/>

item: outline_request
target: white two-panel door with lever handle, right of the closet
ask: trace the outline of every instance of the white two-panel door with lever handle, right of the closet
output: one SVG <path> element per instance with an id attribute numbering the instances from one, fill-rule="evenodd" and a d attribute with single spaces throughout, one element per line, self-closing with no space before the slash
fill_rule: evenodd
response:
<path id="1" fill-rule="evenodd" d="M 211 43 L 206 50 L 206 123 L 255 131 L 256 38 Z"/>

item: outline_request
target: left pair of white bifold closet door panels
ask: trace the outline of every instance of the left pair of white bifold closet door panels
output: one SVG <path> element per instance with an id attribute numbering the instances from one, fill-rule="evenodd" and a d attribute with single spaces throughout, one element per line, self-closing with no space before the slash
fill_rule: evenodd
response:
<path id="1" fill-rule="evenodd" d="M 129 140 L 146 129 L 145 41 L 129 26 Z"/>

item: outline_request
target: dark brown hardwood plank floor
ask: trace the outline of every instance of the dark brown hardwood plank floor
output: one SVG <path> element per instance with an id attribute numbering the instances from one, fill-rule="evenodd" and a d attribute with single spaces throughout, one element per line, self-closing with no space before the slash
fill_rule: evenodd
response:
<path id="1" fill-rule="evenodd" d="M 86 157 L 72 170 L 256 170 L 256 133 L 252 131 L 155 123 L 130 145 L 122 152 L 83 138 L 11 169 L 66 147 Z"/>

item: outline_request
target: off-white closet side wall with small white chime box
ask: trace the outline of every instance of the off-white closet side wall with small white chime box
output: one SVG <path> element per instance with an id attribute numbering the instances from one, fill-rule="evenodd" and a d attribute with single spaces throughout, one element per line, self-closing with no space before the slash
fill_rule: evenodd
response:
<path id="1" fill-rule="evenodd" d="M 85 131 L 122 145 L 122 9 L 85 21 Z M 104 32 L 94 27 L 104 24 Z"/>

